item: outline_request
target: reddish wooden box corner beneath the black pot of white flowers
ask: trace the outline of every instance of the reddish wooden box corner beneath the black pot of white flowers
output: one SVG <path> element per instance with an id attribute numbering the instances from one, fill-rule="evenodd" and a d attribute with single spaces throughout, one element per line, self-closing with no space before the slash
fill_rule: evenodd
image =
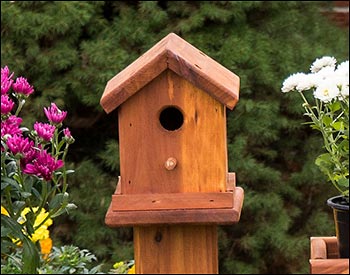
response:
<path id="1" fill-rule="evenodd" d="M 336 237 L 310 238 L 311 274 L 349 274 L 349 259 L 340 259 Z"/>

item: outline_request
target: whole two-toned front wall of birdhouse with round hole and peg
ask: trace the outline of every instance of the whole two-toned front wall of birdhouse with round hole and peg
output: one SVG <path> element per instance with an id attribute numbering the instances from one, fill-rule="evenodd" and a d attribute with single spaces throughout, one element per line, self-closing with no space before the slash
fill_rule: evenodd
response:
<path id="1" fill-rule="evenodd" d="M 225 192 L 225 105 L 166 69 L 119 107 L 123 194 Z"/>

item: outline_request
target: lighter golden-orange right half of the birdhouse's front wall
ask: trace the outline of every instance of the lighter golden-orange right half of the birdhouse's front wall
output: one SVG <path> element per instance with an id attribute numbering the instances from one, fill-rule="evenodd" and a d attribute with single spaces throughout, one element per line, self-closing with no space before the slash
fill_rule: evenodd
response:
<path id="1" fill-rule="evenodd" d="M 176 77 L 177 75 L 175 75 Z M 227 176 L 225 106 L 180 78 L 186 128 L 181 135 L 184 192 L 224 192 Z"/>

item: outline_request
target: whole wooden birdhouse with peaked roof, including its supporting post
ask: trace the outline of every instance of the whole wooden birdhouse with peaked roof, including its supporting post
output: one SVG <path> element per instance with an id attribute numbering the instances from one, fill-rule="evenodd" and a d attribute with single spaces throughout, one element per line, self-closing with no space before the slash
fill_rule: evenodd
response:
<path id="1" fill-rule="evenodd" d="M 106 214 L 133 226 L 137 273 L 217 273 L 217 225 L 236 223 L 243 189 L 228 173 L 226 110 L 239 77 L 169 34 L 113 77 L 120 177 Z"/>

